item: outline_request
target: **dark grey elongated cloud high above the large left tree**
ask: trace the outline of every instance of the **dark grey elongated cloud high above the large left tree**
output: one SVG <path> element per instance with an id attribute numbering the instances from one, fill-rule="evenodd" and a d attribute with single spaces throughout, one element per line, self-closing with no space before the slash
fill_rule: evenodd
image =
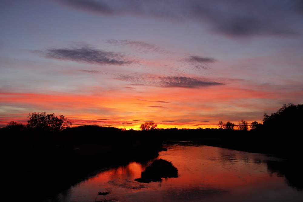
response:
<path id="1" fill-rule="evenodd" d="M 32 52 L 46 58 L 98 65 L 129 65 L 134 63 L 134 61 L 126 59 L 120 53 L 98 50 L 86 45 L 72 48 L 49 48 L 44 51 Z"/>

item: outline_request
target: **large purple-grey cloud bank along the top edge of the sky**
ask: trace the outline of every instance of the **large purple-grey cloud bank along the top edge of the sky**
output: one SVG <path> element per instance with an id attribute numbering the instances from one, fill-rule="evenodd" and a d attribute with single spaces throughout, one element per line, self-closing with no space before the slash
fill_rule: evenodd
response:
<path id="1" fill-rule="evenodd" d="M 178 22 L 208 25 L 211 31 L 229 36 L 293 36 L 300 32 L 302 3 L 293 0 L 55 0 L 63 5 L 101 15 L 141 15 Z M 295 17 L 295 18 L 294 18 Z M 296 19 L 294 21 L 294 19 Z"/>

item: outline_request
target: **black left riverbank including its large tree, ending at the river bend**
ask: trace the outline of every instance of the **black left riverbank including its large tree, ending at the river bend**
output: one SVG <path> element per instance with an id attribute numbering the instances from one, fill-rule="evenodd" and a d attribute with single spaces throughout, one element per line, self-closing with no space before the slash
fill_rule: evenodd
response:
<path id="1" fill-rule="evenodd" d="M 102 167 L 150 160 L 161 150 L 160 138 L 142 135 L 142 131 L 98 125 L 61 128 L 66 118 L 33 114 L 28 126 L 11 122 L 0 129 L 6 194 L 30 194 L 31 201 L 38 201 Z"/>

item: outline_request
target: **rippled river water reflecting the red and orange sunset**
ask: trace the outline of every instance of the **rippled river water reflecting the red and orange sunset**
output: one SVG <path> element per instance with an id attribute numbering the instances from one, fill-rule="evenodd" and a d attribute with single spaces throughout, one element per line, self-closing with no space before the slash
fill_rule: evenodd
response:
<path id="1" fill-rule="evenodd" d="M 283 159 L 204 145 L 166 147 L 168 151 L 161 151 L 157 158 L 171 161 L 178 168 L 177 178 L 139 183 L 134 179 L 157 158 L 130 162 L 102 170 L 45 202 L 303 201 L 300 182 L 285 177 L 287 162 Z M 102 196 L 98 192 L 110 193 Z"/>

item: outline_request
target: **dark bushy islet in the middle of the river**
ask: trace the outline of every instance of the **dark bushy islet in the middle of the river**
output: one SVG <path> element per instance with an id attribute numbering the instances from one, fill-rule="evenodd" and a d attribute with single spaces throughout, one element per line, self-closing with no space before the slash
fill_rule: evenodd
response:
<path id="1" fill-rule="evenodd" d="M 138 182 L 149 183 L 161 181 L 162 177 L 178 177 L 178 169 L 170 161 L 156 159 L 141 172 L 141 177 L 135 179 Z"/>

